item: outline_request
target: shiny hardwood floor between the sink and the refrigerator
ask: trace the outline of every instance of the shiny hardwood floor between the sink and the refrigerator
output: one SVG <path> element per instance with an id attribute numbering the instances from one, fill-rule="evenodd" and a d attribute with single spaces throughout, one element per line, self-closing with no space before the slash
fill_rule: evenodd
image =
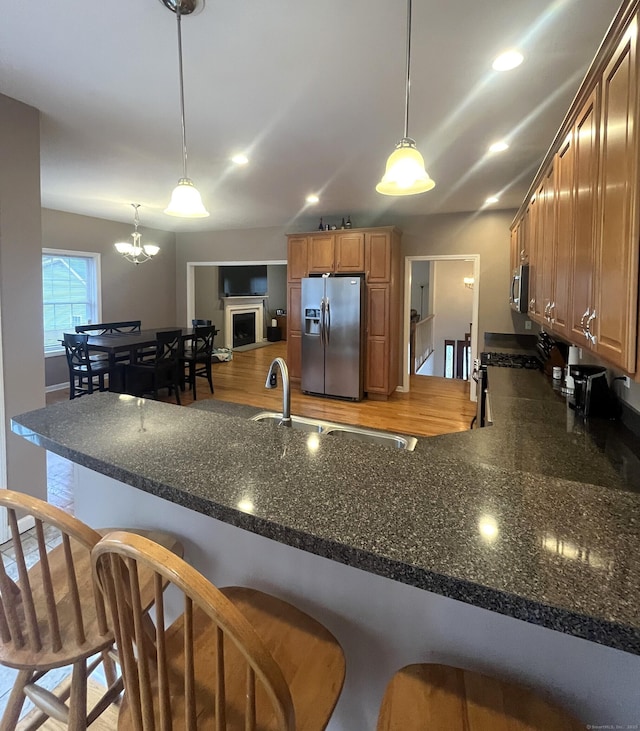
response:
<path id="1" fill-rule="evenodd" d="M 286 360 L 286 351 L 285 341 L 244 352 L 234 351 L 233 360 L 213 366 L 213 395 L 209 393 L 206 379 L 198 379 L 198 399 L 216 398 L 281 411 L 280 382 L 278 388 L 271 390 L 264 387 L 264 382 L 273 358 L 281 356 Z M 294 387 L 291 413 L 415 436 L 435 436 L 469 428 L 476 409 L 475 403 L 469 400 L 466 381 L 411 376 L 410 387 L 409 393 L 396 392 L 388 401 L 359 402 L 307 396 Z M 175 402 L 173 397 L 164 395 L 166 391 L 162 394 L 161 400 Z M 68 398 L 68 391 L 55 391 L 47 394 L 47 403 Z M 182 392 L 181 400 L 185 406 L 193 403 L 189 391 Z"/>

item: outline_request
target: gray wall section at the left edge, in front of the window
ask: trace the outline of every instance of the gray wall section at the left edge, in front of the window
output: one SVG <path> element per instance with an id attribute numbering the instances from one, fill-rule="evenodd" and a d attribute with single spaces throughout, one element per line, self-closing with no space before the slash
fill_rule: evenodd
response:
<path id="1" fill-rule="evenodd" d="M 0 95 L 1 487 L 47 498 L 45 451 L 10 418 L 45 405 L 40 228 L 40 115 Z M 2 462 L 2 460 L 0 460 Z"/>

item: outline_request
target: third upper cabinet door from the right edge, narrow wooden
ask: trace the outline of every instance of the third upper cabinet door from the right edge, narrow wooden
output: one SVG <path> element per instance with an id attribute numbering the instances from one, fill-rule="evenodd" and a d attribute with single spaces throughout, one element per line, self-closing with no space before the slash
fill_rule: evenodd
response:
<path id="1" fill-rule="evenodd" d="M 565 337 L 569 328 L 571 252 L 574 234 L 574 154 L 570 133 L 556 155 L 556 246 L 551 327 Z"/>

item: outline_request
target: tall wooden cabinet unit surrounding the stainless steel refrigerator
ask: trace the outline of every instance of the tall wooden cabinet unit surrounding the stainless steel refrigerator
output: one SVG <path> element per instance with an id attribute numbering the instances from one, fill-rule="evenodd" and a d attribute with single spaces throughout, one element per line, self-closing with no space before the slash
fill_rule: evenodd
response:
<path id="1" fill-rule="evenodd" d="M 311 274 L 364 273 L 364 390 L 385 400 L 400 382 L 402 291 L 400 232 L 394 227 L 348 229 L 287 237 L 287 364 L 302 376 L 302 279 Z"/>

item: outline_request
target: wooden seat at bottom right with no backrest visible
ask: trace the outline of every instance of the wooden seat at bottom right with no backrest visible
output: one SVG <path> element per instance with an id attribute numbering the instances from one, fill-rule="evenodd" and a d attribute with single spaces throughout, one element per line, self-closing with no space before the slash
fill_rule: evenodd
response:
<path id="1" fill-rule="evenodd" d="M 416 664 L 387 686 L 377 731 L 585 731 L 579 721 L 515 683 L 449 665 Z"/>

